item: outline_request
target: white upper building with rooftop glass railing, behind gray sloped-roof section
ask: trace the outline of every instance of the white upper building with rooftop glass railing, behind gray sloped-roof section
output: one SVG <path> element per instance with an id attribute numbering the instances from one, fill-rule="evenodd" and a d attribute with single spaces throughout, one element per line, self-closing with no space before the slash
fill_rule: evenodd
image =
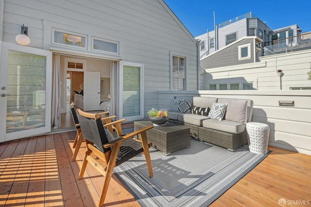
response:
<path id="1" fill-rule="evenodd" d="M 290 45 L 292 42 L 289 42 L 289 37 L 301 34 L 301 29 L 296 24 L 272 30 L 252 12 L 215 25 L 215 28 L 213 31 L 195 37 L 201 41 L 200 58 L 204 58 L 245 36 L 257 36 L 262 40 L 263 46 L 269 46 L 284 38 L 288 38 L 287 42 L 284 41 Z M 293 42 L 297 43 L 297 40 L 293 40 Z M 264 55 L 263 52 L 262 49 L 261 55 Z"/>

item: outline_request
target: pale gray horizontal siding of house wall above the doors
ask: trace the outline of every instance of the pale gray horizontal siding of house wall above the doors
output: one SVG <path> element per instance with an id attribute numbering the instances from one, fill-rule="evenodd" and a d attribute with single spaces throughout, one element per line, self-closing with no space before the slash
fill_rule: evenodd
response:
<path id="1" fill-rule="evenodd" d="M 4 0 L 3 41 L 16 44 L 22 24 L 29 47 L 49 48 L 48 24 L 120 42 L 123 61 L 144 64 L 146 108 L 155 91 L 170 90 L 170 51 L 185 54 L 187 88 L 197 89 L 196 41 L 162 0 Z"/>

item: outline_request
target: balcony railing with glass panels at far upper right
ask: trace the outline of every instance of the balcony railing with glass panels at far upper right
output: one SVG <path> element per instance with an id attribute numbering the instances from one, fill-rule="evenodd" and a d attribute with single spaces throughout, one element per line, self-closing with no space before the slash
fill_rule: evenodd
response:
<path id="1" fill-rule="evenodd" d="M 263 44 L 264 56 L 311 48 L 311 32 Z"/>

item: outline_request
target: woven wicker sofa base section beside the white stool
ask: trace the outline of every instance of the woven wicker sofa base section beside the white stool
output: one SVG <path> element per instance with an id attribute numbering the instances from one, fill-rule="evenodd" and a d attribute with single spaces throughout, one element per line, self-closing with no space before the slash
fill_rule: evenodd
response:
<path id="1" fill-rule="evenodd" d="M 247 133 L 243 131 L 239 134 L 231 134 L 224 131 L 199 127 L 199 139 L 233 151 L 247 143 Z"/>

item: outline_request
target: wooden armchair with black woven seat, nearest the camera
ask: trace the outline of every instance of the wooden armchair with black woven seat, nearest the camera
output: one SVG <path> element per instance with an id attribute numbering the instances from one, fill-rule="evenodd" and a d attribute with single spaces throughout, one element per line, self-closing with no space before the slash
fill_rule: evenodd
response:
<path id="1" fill-rule="evenodd" d="M 153 177 L 149 154 L 149 147 L 151 147 L 152 143 L 148 143 L 146 135 L 146 130 L 153 126 L 142 128 L 108 142 L 102 120 L 98 113 L 87 113 L 78 109 L 77 116 L 87 147 L 79 173 L 79 179 L 83 178 L 87 163 L 90 163 L 104 175 L 104 187 L 99 206 L 104 205 L 113 168 L 137 156 L 139 153 L 145 155 L 149 176 Z M 134 138 L 137 135 L 140 136 L 140 140 Z"/>

